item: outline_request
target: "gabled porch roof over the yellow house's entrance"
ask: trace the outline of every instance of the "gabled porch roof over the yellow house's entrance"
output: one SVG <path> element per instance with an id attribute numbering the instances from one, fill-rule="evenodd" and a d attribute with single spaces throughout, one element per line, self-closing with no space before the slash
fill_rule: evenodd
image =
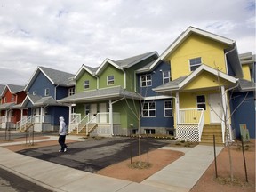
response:
<path id="1" fill-rule="evenodd" d="M 220 72 L 215 68 L 211 68 L 207 65 L 202 64 L 199 68 L 196 68 L 196 70 L 193 71 L 189 76 L 180 76 L 179 78 L 169 82 L 168 84 L 163 84 L 156 87 L 155 89 L 153 89 L 153 91 L 165 93 L 170 91 L 180 91 L 183 87 L 188 85 L 196 76 L 199 76 L 203 71 L 211 73 L 214 76 L 220 76 L 220 78 L 223 78 L 230 83 L 236 84 L 237 80 L 235 77 L 228 76 L 227 74 Z"/>

